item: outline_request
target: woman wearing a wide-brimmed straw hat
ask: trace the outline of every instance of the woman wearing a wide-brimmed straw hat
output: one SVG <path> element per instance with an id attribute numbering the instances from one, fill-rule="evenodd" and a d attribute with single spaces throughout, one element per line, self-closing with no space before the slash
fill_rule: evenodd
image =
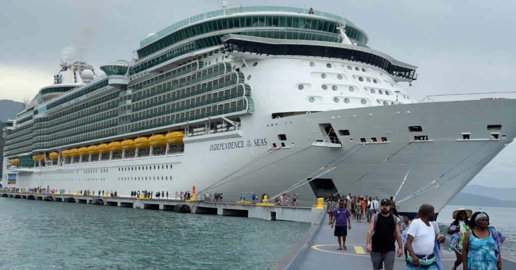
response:
<path id="1" fill-rule="evenodd" d="M 455 265 L 452 270 L 457 269 L 457 267 L 462 263 L 462 241 L 464 240 L 464 235 L 470 229 L 469 218 L 473 214 L 473 211 L 466 210 L 464 208 L 459 208 L 458 210 L 453 212 L 453 221 L 448 228 L 448 234 L 450 235 L 450 248 L 449 250 L 455 252 L 455 256 L 457 260 L 455 260 Z"/>

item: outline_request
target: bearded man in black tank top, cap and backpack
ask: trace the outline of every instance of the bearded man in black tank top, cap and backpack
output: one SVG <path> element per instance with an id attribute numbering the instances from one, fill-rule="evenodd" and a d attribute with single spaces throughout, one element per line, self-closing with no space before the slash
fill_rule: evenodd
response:
<path id="1" fill-rule="evenodd" d="M 395 215 L 389 213 L 390 210 L 391 200 L 383 199 L 380 203 L 380 213 L 371 218 L 367 230 L 366 250 L 371 253 L 374 270 L 380 270 L 382 265 L 385 270 L 394 268 L 395 240 L 398 241 L 398 257 L 403 254 L 398 220 Z"/>

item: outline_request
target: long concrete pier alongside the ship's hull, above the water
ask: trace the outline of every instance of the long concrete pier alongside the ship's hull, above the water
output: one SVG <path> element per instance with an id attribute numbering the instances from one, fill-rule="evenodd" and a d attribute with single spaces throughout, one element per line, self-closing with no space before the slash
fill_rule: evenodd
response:
<path id="1" fill-rule="evenodd" d="M 186 204 L 190 213 L 224 216 L 254 217 L 269 220 L 309 222 L 314 224 L 323 211 L 318 208 L 260 206 L 247 203 L 182 201 L 172 199 L 137 199 L 127 197 L 81 196 L 74 194 L 35 194 L 0 192 L 2 197 L 45 201 L 86 203 L 138 209 L 174 211 L 176 205 Z"/>

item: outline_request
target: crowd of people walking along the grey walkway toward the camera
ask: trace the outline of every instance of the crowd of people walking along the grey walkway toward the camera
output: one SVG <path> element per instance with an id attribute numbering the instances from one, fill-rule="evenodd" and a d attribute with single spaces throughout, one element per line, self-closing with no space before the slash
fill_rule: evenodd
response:
<path id="1" fill-rule="evenodd" d="M 377 196 L 362 198 L 349 194 L 338 199 L 330 196 L 328 224 L 335 228 L 337 250 L 347 250 L 346 236 L 351 230 L 351 218 L 360 223 L 365 210 L 369 222 L 366 250 L 374 270 L 392 270 L 396 255 L 401 257 L 403 253 L 407 270 L 442 269 L 441 244 L 445 242 L 445 236 L 440 235 L 433 206 L 423 204 L 412 220 L 409 215 L 400 219 L 392 199 L 382 199 L 378 203 Z M 460 264 L 463 270 L 502 269 L 501 246 L 505 235 L 489 226 L 489 215 L 461 208 L 453 213 L 453 218 L 455 220 L 447 230 L 449 250 L 456 255 L 452 270 L 457 270 Z"/>

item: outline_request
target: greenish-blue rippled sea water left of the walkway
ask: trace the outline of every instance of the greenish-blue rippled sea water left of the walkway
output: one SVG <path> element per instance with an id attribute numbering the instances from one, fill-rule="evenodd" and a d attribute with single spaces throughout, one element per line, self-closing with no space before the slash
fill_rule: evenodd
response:
<path id="1" fill-rule="evenodd" d="M 269 269 L 310 226 L 0 198 L 0 268 Z"/>

